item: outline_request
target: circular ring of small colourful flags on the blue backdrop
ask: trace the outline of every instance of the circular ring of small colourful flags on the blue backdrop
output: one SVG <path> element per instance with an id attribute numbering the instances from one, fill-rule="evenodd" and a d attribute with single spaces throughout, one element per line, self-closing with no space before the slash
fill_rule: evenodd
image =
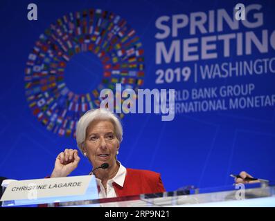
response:
<path id="1" fill-rule="evenodd" d="M 103 79 L 93 90 L 77 94 L 66 86 L 64 70 L 71 57 L 82 52 L 100 59 Z M 25 69 L 26 98 L 49 131 L 75 137 L 78 119 L 99 108 L 100 90 L 114 90 L 117 83 L 122 90 L 137 90 L 143 78 L 143 46 L 134 29 L 113 12 L 84 10 L 64 15 L 35 42 Z"/>

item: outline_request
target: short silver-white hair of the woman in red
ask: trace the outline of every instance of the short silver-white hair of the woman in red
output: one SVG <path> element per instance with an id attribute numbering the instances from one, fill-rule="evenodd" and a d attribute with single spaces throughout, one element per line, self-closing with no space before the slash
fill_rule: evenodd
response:
<path id="1" fill-rule="evenodd" d="M 89 110 L 80 117 L 78 121 L 78 125 L 76 127 L 76 142 L 78 144 L 78 148 L 83 153 L 83 144 L 86 140 L 86 131 L 89 125 L 96 120 L 108 120 L 114 126 L 114 134 L 118 139 L 118 142 L 122 142 L 123 136 L 123 128 L 121 125 L 121 121 L 118 117 L 105 108 L 98 108 L 94 110 Z"/>

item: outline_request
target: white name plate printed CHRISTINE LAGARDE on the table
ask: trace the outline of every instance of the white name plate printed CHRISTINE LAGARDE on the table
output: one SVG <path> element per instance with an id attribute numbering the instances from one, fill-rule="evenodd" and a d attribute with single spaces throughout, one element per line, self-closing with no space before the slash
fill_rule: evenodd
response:
<path id="1" fill-rule="evenodd" d="M 17 206 L 96 198 L 96 178 L 94 175 L 82 175 L 11 182 L 1 201 L 3 206 Z"/>

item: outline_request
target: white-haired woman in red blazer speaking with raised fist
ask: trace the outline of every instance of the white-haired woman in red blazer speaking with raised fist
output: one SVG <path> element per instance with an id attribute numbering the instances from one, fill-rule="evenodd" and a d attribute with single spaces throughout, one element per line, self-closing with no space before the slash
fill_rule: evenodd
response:
<path id="1" fill-rule="evenodd" d="M 118 160 L 123 137 L 121 122 L 111 111 L 100 108 L 83 115 L 76 128 L 76 141 L 96 176 L 100 198 L 143 193 L 161 193 L 165 189 L 159 173 L 126 169 Z M 78 151 L 66 149 L 57 155 L 51 177 L 65 177 L 78 167 Z M 90 173 L 90 174 L 91 174 Z"/>

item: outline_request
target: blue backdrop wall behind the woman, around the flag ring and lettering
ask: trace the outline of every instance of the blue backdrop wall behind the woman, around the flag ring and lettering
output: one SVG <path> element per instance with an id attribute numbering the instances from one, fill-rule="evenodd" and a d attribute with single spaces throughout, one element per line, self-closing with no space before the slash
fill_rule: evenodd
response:
<path id="1" fill-rule="evenodd" d="M 27 18 L 29 3 L 37 5 L 37 21 Z M 35 115 L 26 92 L 26 76 L 33 64 L 27 63 L 37 61 L 31 57 L 35 42 L 43 33 L 46 35 L 51 23 L 64 15 L 69 19 L 70 12 L 101 9 L 100 15 L 107 11 L 125 19 L 127 30 L 135 30 L 134 35 L 139 37 L 138 49 L 143 53 L 140 63 L 129 60 L 130 64 L 143 64 L 139 68 L 141 81 L 136 86 L 176 90 L 172 121 L 161 121 L 161 116 L 154 113 L 123 117 L 118 160 L 124 166 L 161 173 L 168 191 L 191 184 L 231 184 L 229 174 L 240 171 L 275 180 L 275 3 L 245 1 L 247 23 L 234 20 L 236 3 L 239 2 L 1 1 L 0 175 L 17 180 L 45 177 L 51 174 L 60 151 L 77 148 L 72 135 L 54 133 L 47 129 L 48 122 L 43 123 Z M 202 26 L 195 26 L 195 21 L 203 19 Z M 104 65 L 95 53 L 80 52 L 66 62 L 63 80 L 75 94 L 89 93 L 102 81 Z M 236 65 L 240 69 L 236 70 Z M 181 73 L 186 70 L 190 76 Z M 247 85 L 251 91 L 239 94 L 238 89 Z M 228 86 L 235 90 L 224 95 L 222 91 Z M 213 93 L 195 99 L 195 92 L 203 88 L 213 88 L 216 96 Z M 184 93 L 190 96 L 184 99 Z M 220 102 L 221 106 L 211 109 L 209 102 Z M 71 175 L 89 171 L 91 166 L 82 157 Z"/>

